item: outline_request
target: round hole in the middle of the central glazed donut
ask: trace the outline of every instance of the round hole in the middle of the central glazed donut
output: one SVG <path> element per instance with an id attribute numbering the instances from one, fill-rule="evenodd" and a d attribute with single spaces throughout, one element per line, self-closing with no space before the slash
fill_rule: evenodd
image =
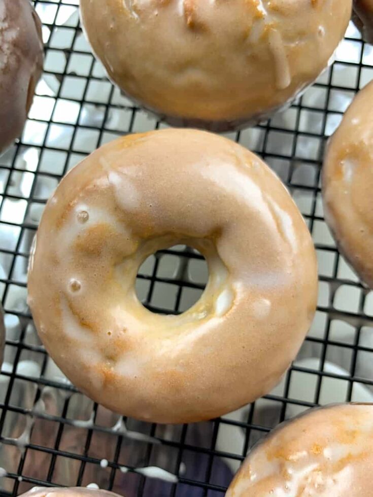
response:
<path id="1" fill-rule="evenodd" d="M 136 293 L 149 310 L 180 314 L 198 302 L 209 280 L 205 257 L 190 245 L 174 245 L 149 256 L 140 266 Z"/>

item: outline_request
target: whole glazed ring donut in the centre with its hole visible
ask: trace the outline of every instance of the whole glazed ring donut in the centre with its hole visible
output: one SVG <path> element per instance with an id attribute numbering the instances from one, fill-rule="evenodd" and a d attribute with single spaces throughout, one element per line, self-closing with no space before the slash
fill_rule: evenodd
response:
<path id="1" fill-rule="evenodd" d="M 138 300 L 140 265 L 187 244 L 210 277 L 181 315 Z M 70 171 L 32 249 L 28 302 L 58 367 L 109 409 L 209 419 L 267 393 L 314 316 L 315 250 L 278 177 L 232 141 L 165 129 L 119 138 Z"/>

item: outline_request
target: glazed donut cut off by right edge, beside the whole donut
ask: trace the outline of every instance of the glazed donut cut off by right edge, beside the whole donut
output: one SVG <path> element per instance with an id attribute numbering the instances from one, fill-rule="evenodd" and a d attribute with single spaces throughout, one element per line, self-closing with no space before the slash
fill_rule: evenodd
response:
<path id="1" fill-rule="evenodd" d="M 373 288 L 373 83 L 354 98 L 327 147 L 324 216 L 341 253 Z"/>

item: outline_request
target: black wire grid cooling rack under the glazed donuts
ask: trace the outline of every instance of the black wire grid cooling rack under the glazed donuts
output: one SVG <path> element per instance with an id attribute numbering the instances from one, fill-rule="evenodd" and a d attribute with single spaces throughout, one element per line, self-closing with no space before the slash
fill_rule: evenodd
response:
<path id="1" fill-rule="evenodd" d="M 333 66 L 288 111 L 227 134 L 279 174 L 306 219 L 319 261 L 318 310 L 298 358 L 269 395 L 209 422 L 162 426 L 121 418 L 77 392 L 32 324 L 27 258 L 61 176 L 119 135 L 164 126 L 105 78 L 79 27 L 78 0 L 35 4 L 44 25 L 45 72 L 19 143 L 0 158 L 0 298 L 7 328 L 0 494 L 96 484 L 127 497 L 222 496 L 248 448 L 279 422 L 315 405 L 373 400 L 373 293 L 335 248 L 319 183 L 326 138 L 357 89 L 373 78 L 373 49 L 351 25 Z M 144 263 L 138 295 L 155 312 L 182 312 L 207 278 L 204 259 L 176 246 Z"/>

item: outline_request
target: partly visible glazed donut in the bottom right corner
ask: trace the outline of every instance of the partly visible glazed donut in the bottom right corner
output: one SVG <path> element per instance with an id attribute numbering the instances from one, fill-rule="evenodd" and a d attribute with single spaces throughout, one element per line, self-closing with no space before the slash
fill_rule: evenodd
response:
<path id="1" fill-rule="evenodd" d="M 310 409 L 254 447 L 226 497 L 371 497 L 373 404 Z"/>

